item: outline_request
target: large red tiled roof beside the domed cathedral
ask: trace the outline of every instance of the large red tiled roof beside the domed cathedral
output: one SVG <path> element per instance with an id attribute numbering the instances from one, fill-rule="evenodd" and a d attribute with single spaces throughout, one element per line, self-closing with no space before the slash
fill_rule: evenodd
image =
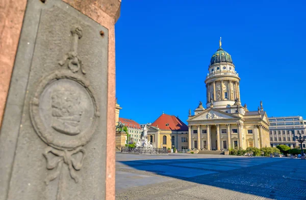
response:
<path id="1" fill-rule="evenodd" d="M 167 125 L 166 125 L 167 124 Z M 188 131 L 188 126 L 174 115 L 162 114 L 151 126 L 158 125 L 162 130 L 179 130 L 179 131 Z"/>

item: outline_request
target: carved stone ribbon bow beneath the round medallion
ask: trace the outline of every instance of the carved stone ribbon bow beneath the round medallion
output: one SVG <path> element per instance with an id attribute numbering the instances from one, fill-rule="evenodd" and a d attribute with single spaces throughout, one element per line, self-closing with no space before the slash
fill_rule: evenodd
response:
<path id="1" fill-rule="evenodd" d="M 81 157 L 80 154 L 82 154 Z M 85 150 L 82 147 L 71 151 L 62 151 L 52 147 L 47 147 L 43 155 L 47 160 L 47 169 L 53 170 L 56 168 L 46 177 L 46 184 L 53 181 L 61 174 L 63 163 L 68 165 L 71 178 L 76 183 L 79 182 L 78 175 L 75 173 L 75 171 L 79 171 L 82 168 L 83 159 L 85 157 Z"/>

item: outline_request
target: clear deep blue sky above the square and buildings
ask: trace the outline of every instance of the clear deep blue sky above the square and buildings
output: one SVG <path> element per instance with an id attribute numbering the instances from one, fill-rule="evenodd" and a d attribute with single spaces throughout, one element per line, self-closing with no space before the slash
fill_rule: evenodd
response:
<path id="1" fill-rule="evenodd" d="M 206 101 L 205 78 L 219 47 L 232 55 L 242 105 L 306 118 L 305 1 L 124 0 L 116 31 L 120 117 L 185 123 Z M 193 112 L 192 112 L 193 113 Z"/>

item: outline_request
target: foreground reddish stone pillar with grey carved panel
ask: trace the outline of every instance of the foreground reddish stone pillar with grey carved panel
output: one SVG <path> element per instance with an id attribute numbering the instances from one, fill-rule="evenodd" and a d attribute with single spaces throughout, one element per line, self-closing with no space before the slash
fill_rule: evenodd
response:
<path id="1" fill-rule="evenodd" d="M 22 0 L 0 7 L 0 199 L 115 199 L 120 4 Z"/>

